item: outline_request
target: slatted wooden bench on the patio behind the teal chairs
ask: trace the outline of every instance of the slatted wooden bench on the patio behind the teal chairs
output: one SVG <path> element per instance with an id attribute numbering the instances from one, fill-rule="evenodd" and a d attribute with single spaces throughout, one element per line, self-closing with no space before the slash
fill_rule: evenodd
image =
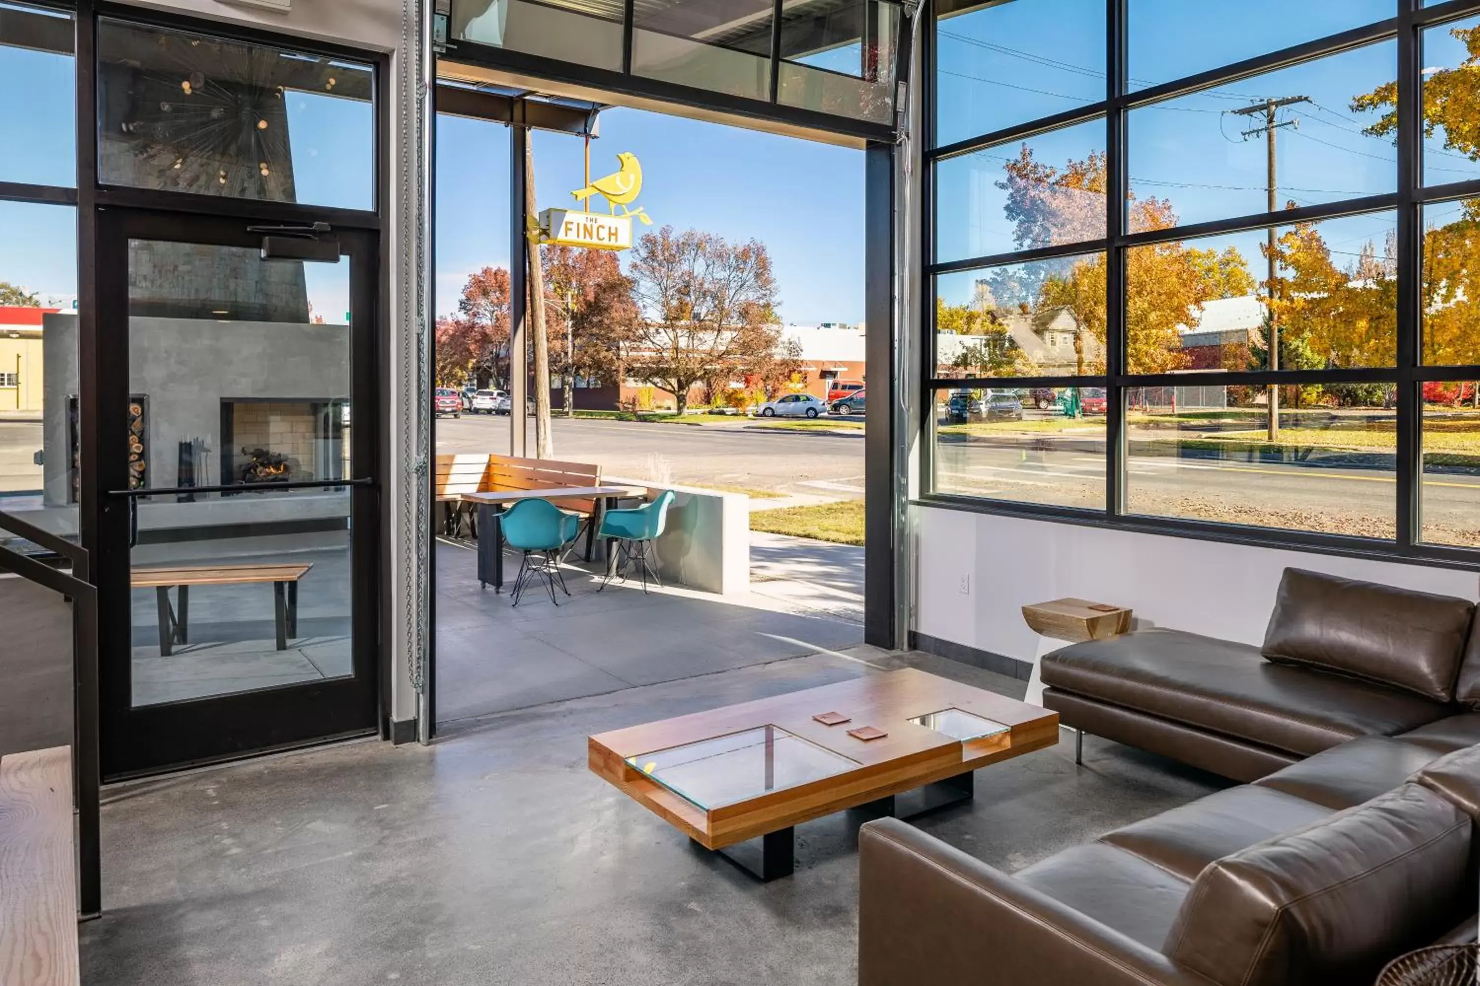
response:
<path id="1" fill-rule="evenodd" d="M 497 492 L 500 489 L 570 489 L 601 485 L 601 466 L 588 463 L 558 463 L 551 458 L 518 458 L 515 455 L 438 455 L 437 503 L 445 511 L 443 529 L 454 537 L 466 522 L 478 537 L 475 513 L 459 501 L 468 492 Z M 582 514 L 586 523 L 586 560 L 595 557 L 596 528 L 601 523 L 601 503 L 596 500 L 556 500 L 555 506 Z"/>

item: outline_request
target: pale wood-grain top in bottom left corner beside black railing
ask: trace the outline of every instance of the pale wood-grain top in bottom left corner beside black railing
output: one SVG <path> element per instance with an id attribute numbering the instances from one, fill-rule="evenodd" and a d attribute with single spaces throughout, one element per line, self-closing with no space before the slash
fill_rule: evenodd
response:
<path id="1" fill-rule="evenodd" d="M 0 983 L 77 986 L 68 747 L 0 758 Z"/>

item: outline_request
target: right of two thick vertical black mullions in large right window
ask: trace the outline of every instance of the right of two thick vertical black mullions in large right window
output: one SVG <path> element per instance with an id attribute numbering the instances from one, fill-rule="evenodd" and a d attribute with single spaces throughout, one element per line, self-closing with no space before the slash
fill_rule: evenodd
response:
<path id="1" fill-rule="evenodd" d="M 1415 22 L 1422 0 L 1399 0 L 1397 34 L 1397 543 L 1421 540 L 1422 401 L 1415 381 L 1422 331 L 1422 50 Z"/>

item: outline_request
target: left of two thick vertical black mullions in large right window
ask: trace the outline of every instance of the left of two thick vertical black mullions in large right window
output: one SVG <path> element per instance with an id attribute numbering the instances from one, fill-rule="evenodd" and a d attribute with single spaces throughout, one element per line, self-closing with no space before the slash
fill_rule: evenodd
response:
<path id="1" fill-rule="evenodd" d="M 1125 157 L 1126 0 L 1106 0 L 1106 513 L 1117 516 L 1125 506 L 1125 259 L 1120 238 L 1126 231 L 1125 208 L 1129 177 Z"/>

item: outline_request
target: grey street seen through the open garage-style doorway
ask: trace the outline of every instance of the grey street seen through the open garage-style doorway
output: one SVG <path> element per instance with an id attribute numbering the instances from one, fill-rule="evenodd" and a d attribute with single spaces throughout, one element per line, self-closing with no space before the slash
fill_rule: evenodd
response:
<path id="1" fill-rule="evenodd" d="M 863 432 L 807 435 L 718 424 L 554 420 L 556 460 L 595 463 L 604 475 L 731 491 L 764 489 L 863 500 Z M 509 454 L 509 418 L 437 420 L 438 452 Z M 528 429 L 534 452 L 534 426 Z"/>

